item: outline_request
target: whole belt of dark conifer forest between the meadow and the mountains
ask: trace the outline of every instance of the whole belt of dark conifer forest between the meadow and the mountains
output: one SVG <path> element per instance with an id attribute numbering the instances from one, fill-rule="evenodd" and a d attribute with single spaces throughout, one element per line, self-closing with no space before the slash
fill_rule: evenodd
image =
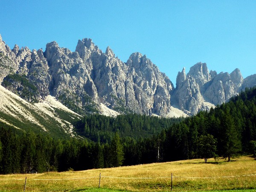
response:
<path id="1" fill-rule="evenodd" d="M 96 115 L 85 116 L 77 129 L 90 140 L 56 140 L 32 131 L 18 136 L 1 128 L 0 173 L 25 173 L 32 168 L 38 172 L 83 170 L 198 157 L 207 162 L 213 156 L 230 160 L 239 153 L 255 153 L 256 88 L 181 122 L 138 115 L 116 119 Z M 156 134 L 146 137 L 154 130 Z"/>

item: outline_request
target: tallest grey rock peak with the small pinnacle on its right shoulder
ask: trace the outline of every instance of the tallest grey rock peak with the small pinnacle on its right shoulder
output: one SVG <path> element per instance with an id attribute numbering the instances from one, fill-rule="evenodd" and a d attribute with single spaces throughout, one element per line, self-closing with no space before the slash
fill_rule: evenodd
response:
<path id="1" fill-rule="evenodd" d="M 91 39 L 78 41 L 76 52 L 86 64 L 100 102 L 115 111 L 125 112 L 125 64 L 108 47 L 103 53 Z"/>

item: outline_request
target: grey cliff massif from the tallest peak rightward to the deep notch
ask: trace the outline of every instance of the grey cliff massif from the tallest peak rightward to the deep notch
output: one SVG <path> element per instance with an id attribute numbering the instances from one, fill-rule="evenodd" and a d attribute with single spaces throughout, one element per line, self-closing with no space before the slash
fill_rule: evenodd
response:
<path id="1" fill-rule="evenodd" d="M 100 101 L 121 113 L 166 114 L 172 82 L 146 56 L 134 53 L 126 63 L 110 47 L 105 53 L 90 39 L 79 40 L 76 52 L 87 64 Z"/>

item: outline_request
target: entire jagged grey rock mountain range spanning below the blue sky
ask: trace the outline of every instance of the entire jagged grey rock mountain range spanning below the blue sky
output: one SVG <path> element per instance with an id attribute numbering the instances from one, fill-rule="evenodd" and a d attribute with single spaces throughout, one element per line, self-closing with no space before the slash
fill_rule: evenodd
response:
<path id="1" fill-rule="evenodd" d="M 185 68 L 178 72 L 174 88 L 172 81 L 139 52 L 123 62 L 110 47 L 102 52 L 87 38 L 78 41 L 75 52 L 55 41 L 46 45 L 45 52 L 17 45 L 10 49 L 1 36 L 0 81 L 29 102 L 42 102 L 51 95 L 79 114 L 109 111 L 113 116 L 170 116 L 173 107 L 193 115 L 256 84 L 254 76 L 243 80 L 239 69 L 217 74 L 209 72 L 205 63 L 198 63 L 187 74 Z"/>

